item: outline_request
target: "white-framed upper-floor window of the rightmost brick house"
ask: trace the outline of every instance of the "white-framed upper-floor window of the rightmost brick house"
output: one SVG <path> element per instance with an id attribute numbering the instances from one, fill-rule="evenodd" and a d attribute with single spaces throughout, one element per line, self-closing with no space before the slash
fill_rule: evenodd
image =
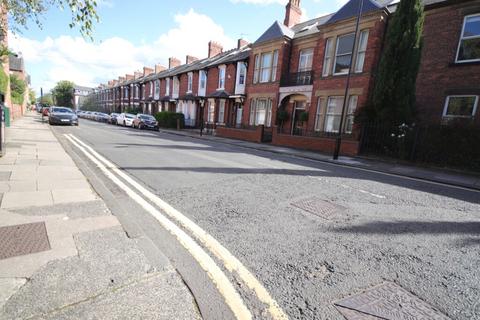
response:
<path id="1" fill-rule="evenodd" d="M 457 62 L 480 61 L 480 14 L 466 16 L 458 44 Z"/>

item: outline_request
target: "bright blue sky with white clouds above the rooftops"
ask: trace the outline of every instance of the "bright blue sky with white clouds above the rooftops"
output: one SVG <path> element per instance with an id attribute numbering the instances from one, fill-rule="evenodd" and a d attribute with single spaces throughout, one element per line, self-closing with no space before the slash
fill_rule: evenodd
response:
<path id="1" fill-rule="evenodd" d="M 288 0 L 100 0 L 100 22 L 93 41 L 70 29 L 69 11 L 51 8 L 21 33 L 10 34 L 9 47 L 21 52 L 31 87 L 40 93 L 60 80 L 96 87 L 144 66 L 168 66 L 187 54 L 204 58 L 208 41 L 225 50 L 237 39 L 255 41 L 275 20 L 283 22 Z M 303 20 L 338 10 L 347 0 L 301 0 Z"/>

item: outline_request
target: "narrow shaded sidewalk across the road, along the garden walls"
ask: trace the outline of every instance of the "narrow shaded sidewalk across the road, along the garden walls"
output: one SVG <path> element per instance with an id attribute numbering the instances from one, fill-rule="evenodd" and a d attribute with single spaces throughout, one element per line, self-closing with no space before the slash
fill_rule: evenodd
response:
<path id="1" fill-rule="evenodd" d="M 335 161 L 332 159 L 332 155 L 274 146 L 268 143 L 254 143 L 212 135 L 203 135 L 200 137 L 200 131 L 198 129 L 184 129 L 181 131 L 160 129 L 160 132 L 480 190 L 480 175 L 468 175 L 452 170 L 429 169 L 413 165 L 395 164 L 361 157 L 340 157 L 338 161 Z"/>

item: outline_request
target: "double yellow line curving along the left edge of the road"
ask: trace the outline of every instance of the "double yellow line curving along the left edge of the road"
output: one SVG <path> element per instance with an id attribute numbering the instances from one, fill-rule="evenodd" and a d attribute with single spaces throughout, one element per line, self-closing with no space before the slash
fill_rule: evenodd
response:
<path id="1" fill-rule="evenodd" d="M 266 316 L 266 312 L 269 314 L 270 318 L 275 320 L 288 319 L 287 315 L 283 312 L 265 287 L 214 237 L 181 212 L 133 180 L 129 175 L 96 152 L 92 147 L 88 146 L 72 134 L 65 134 L 64 136 L 83 154 L 85 154 L 85 156 L 89 158 L 113 183 L 125 191 L 135 202 L 157 219 L 163 228 L 175 236 L 178 242 L 192 255 L 207 273 L 219 293 L 224 298 L 225 303 L 232 310 L 237 319 L 252 319 L 252 313 L 247 308 L 245 302 L 226 274 L 193 238 L 208 249 L 210 254 L 220 260 L 223 267 L 228 270 L 228 272 L 236 273 L 245 285 L 253 291 L 255 296 L 265 305 L 265 310 L 261 314 Z M 143 197 L 139 193 L 143 195 Z M 148 199 L 156 207 L 145 199 Z M 184 230 L 187 230 L 193 238 L 183 231 L 176 223 L 178 223 Z"/>

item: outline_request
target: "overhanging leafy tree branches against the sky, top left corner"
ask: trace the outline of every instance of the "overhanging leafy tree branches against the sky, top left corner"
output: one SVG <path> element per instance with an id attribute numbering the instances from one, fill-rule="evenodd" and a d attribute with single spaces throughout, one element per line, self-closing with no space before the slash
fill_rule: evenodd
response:
<path id="1" fill-rule="evenodd" d="M 72 13 L 70 28 L 78 28 L 84 37 L 92 38 L 93 24 L 99 21 L 96 0 L 0 0 L 0 5 L 7 9 L 12 31 L 26 29 L 29 21 L 42 27 L 41 17 L 51 7 Z M 5 30 L 6 26 L 0 28 Z"/>

